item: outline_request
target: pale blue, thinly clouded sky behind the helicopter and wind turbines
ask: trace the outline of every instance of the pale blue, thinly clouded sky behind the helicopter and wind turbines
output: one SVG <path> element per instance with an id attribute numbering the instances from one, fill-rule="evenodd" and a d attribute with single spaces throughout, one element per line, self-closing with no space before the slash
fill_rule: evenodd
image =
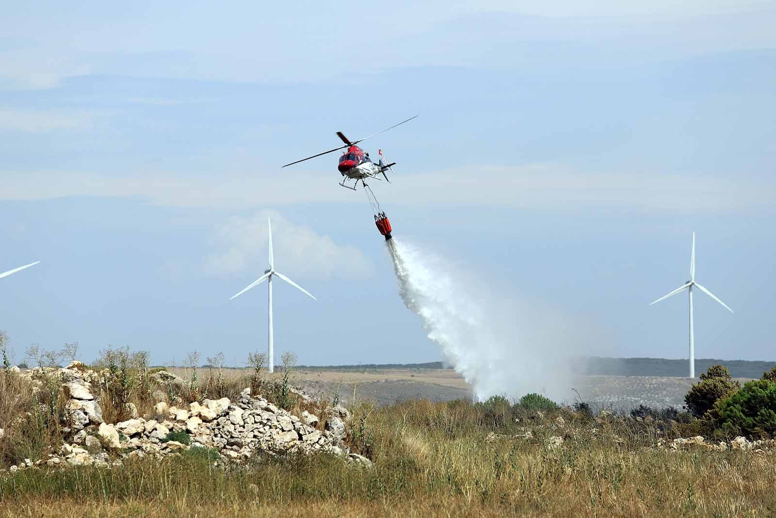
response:
<path id="1" fill-rule="evenodd" d="M 0 36 L 0 329 L 181 363 L 266 346 L 300 363 L 441 353 L 397 294 L 336 155 L 393 235 L 442 256 L 569 353 L 774 360 L 776 2 L 165 2 L 5 9 Z M 462 290 L 462 294 L 469 293 Z M 475 301 L 476 302 L 476 301 Z M 556 338 L 554 338 L 556 339 Z"/>

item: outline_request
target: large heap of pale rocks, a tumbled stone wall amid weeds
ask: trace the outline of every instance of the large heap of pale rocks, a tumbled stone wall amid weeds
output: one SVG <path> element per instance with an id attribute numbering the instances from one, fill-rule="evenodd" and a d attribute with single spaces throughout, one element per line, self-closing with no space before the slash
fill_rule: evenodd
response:
<path id="1" fill-rule="evenodd" d="M 251 389 L 241 392 L 237 402 L 229 398 L 204 399 L 192 402 L 188 408 L 168 405 L 161 391 L 153 419 L 137 416 L 110 424 L 102 419 L 102 408 L 92 388 L 99 386 L 100 374 L 73 362 L 58 369 L 62 389 L 68 398 L 65 404 L 64 430 L 70 440 L 56 453 L 37 461 L 37 465 L 120 465 L 126 457 L 156 458 L 191 448 L 212 448 L 218 451 L 217 462 L 243 462 L 257 454 L 310 454 L 326 452 L 343 457 L 348 462 L 369 466 L 369 459 L 351 453 L 345 445 L 350 412 L 339 405 L 325 410 L 324 422 L 317 415 L 302 412 L 292 415 Z M 41 373 L 29 371 L 33 384 Z M 36 386 L 40 387 L 40 381 Z M 297 393 L 300 390 L 295 389 Z M 311 398 L 303 395 L 306 401 Z M 323 426 L 321 426 L 323 424 Z M 175 440 L 178 439 L 178 440 Z M 31 467 L 26 460 L 11 471 Z"/>

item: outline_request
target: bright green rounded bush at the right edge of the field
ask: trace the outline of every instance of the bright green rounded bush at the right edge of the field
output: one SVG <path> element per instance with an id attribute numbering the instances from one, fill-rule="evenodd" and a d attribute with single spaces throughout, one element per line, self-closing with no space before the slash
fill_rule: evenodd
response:
<path id="1" fill-rule="evenodd" d="M 740 391 L 718 402 L 715 426 L 727 435 L 771 437 L 776 434 L 776 383 L 747 381 Z"/>

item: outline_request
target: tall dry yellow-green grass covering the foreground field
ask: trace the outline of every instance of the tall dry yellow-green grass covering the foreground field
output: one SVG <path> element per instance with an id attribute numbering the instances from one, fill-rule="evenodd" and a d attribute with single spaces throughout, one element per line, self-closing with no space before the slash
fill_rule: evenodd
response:
<path id="1" fill-rule="evenodd" d="M 189 451 L 113 470 L 26 470 L 0 480 L 0 516 L 776 513 L 774 452 L 659 450 L 652 423 L 567 409 L 525 412 L 519 422 L 467 402 L 352 410 L 373 429 L 374 468 L 317 455 L 220 469 Z M 514 437 L 526 430 L 532 437 Z M 550 436 L 562 445 L 553 449 Z"/>

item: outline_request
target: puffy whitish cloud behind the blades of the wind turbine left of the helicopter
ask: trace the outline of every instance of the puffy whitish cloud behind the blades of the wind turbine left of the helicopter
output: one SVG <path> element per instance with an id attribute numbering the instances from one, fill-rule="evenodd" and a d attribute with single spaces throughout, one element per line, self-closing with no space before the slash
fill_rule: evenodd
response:
<path id="1" fill-rule="evenodd" d="M 329 236 L 295 224 L 276 210 L 232 217 L 218 228 L 212 237 L 217 252 L 206 258 L 207 272 L 255 273 L 258 277 L 268 265 L 268 217 L 272 218 L 275 269 L 279 272 L 291 278 L 372 275 L 372 263 L 358 249 L 338 245 Z"/>

